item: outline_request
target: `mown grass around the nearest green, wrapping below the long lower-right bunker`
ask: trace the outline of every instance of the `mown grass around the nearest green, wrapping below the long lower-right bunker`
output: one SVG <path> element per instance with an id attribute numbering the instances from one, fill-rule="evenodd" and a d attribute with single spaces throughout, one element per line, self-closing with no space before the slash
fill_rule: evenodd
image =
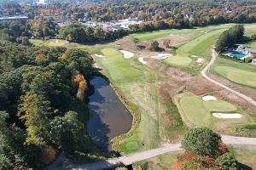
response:
<path id="1" fill-rule="evenodd" d="M 236 123 L 247 122 L 247 116 L 243 115 L 241 119 L 218 119 L 212 116 L 212 112 L 239 113 L 235 105 L 224 100 L 203 101 L 201 96 L 191 93 L 184 93 L 178 96 L 180 112 L 183 114 L 184 121 L 190 127 L 213 127 L 224 130 L 224 127 L 235 125 Z M 218 125 L 222 124 L 224 127 Z"/>

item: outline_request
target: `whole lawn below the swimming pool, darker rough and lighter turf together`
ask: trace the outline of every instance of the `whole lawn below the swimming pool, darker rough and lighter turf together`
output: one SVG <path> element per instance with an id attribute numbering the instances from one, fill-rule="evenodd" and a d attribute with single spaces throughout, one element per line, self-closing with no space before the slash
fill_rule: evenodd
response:
<path id="1" fill-rule="evenodd" d="M 215 61 L 210 71 L 231 82 L 256 88 L 256 67 L 248 63 L 239 63 L 230 59 L 219 58 Z"/>

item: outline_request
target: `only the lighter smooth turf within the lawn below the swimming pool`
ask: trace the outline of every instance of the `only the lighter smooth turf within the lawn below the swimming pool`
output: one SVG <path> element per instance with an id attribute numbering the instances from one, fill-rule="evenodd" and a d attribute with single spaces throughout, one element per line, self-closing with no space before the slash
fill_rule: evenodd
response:
<path id="1" fill-rule="evenodd" d="M 244 71 L 230 66 L 215 66 L 214 71 L 232 82 L 256 88 L 256 72 Z"/>

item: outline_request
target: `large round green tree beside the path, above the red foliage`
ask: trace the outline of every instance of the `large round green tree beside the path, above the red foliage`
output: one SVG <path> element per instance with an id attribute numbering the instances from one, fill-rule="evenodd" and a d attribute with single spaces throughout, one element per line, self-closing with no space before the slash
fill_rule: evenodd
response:
<path id="1" fill-rule="evenodd" d="M 207 127 L 193 128 L 185 133 L 182 147 L 200 156 L 214 156 L 220 139 L 221 136 L 218 133 L 214 133 Z"/>

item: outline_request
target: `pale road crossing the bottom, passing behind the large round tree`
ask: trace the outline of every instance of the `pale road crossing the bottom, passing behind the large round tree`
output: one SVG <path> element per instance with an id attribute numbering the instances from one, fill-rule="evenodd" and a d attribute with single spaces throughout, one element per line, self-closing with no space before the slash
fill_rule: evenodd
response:
<path id="1" fill-rule="evenodd" d="M 256 138 L 245 138 L 245 137 L 235 137 L 222 135 L 222 140 L 225 144 L 252 144 L 256 145 Z M 138 152 L 136 154 L 121 156 L 119 158 L 108 159 L 106 161 L 98 161 L 95 163 L 89 163 L 84 165 L 76 165 L 72 167 L 73 170 L 97 170 L 109 167 L 118 167 L 124 165 L 131 165 L 137 161 L 147 160 L 150 157 L 160 156 L 167 152 L 182 150 L 180 148 L 181 144 L 166 144 L 166 146 L 154 149 Z"/>

